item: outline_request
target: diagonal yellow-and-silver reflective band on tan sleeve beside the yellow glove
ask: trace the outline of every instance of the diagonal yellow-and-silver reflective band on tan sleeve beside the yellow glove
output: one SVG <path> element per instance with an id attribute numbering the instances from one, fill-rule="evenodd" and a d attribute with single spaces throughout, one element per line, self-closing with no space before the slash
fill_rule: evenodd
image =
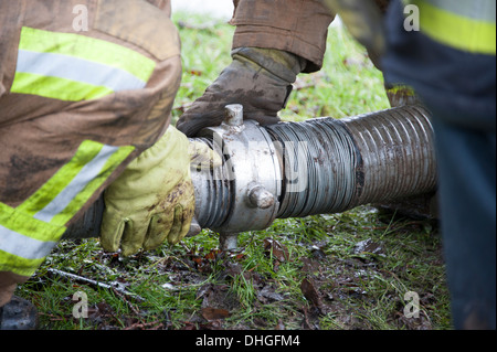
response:
<path id="1" fill-rule="evenodd" d="M 134 149 L 84 141 L 71 161 L 18 209 L 35 218 L 64 225 Z"/>

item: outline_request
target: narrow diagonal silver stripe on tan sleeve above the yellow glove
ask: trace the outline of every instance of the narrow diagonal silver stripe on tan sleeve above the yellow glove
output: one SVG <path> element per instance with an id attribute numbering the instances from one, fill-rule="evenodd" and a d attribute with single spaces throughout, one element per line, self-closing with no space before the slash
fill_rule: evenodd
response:
<path id="1" fill-rule="evenodd" d="M 50 223 L 55 215 L 61 213 L 71 201 L 101 173 L 107 160 L 118 150 L 118 147 L 102 147 L 98 154 L 81 169 L 67 186 L 46 204 L 45 207 L 34 214 L 33 217 Z"/>

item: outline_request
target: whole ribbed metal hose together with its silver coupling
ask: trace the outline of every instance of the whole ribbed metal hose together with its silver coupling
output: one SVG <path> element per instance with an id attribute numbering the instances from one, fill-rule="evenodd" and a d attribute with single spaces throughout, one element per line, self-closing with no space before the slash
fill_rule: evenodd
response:
<path id="1" fill-rule="evenodd" d="M 261 126 L 243 119 L 241 105 L 229 105 L 221 126 L 193 139 L 223 163 L 191 170 L 191 235 L 215 231 L 223 249 L 236 247 L 237 233 L 265 230 L 275 218 L 340 213 L 436 189 L 433 128 L 422 106 Z M 82 223 L 67 232 L 81 237 Z"/>

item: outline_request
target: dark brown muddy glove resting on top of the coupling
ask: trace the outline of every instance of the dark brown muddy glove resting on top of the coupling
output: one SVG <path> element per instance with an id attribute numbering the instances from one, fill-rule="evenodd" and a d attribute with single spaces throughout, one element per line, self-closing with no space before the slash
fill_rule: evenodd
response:
<path id="1" fill-rule="evenodd" d="M 275 49 L 241 47 L 232 52 L 233 62 L 178 120 L 177 128 L 189 137 L 202 128 L 219 126 L 224 107 L 242 104 L 244 118 L 261 125 L 279 121 L 292 84 L 306 60 Z"/>

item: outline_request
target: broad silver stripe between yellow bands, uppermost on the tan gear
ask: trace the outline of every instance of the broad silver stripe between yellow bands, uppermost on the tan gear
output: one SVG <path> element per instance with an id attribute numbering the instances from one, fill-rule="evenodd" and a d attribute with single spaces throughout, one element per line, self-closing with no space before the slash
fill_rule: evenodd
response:
<path id="1" fill-rule="evenodd" d="M 19 50 L 17 72 L 103 86 L 113 92 L 140 89 L 147 83 L 130 73 L 84 58 Z"/>

